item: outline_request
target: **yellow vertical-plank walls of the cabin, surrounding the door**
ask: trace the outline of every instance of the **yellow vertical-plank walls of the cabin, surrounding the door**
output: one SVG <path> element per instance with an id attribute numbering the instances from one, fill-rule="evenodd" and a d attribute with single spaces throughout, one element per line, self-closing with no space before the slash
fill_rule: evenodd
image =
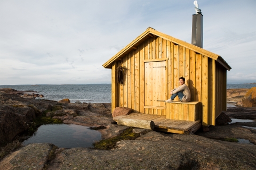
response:
<path id="1" fill-rule="evenodd" d="M 226 69 L 222 66 L 215 69 L 215 60 L 161 37 L 149 37 L 135 48 L 122 59 L 122 66 L 127 68 L 124 85 L 118 85 L 115 76 L 112 76 L 112 86 L 116 86 L 112 88 L 116 91 L 115 95 L 112 94 L 112 112 L 115 107 L 122 106 L 132 108 L 133 112 L 166 115 L 163 108 L 144 108 L 144 100 L 147 100 L 144 98 L 144 62 L 166 58 L 166 99 L 171 97 L 170 91 L 179 86 L 179 78 L 184 77 L 191 92 L 191 101 L 202 103 L 199 118 L 203 120 L 203 125 L 215 124 L 215 117 L 226 108 Z M 113 74 L 116 74 L 113 70 L 117 66 L 113 64 Z M 215 91 L 221 93 L 215 94 Z M 215 105 L 220 107 L 215 108 Z"/>

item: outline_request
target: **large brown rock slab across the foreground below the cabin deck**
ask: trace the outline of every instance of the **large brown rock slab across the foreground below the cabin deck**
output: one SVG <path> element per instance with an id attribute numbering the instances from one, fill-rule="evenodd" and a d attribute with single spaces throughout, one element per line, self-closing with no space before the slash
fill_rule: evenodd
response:
<path id="1" fill-rule="evenodd" d="M 256 146 L 151 131 L 112 150 L 61 151 L 48 169 L 255 169 Z"/>

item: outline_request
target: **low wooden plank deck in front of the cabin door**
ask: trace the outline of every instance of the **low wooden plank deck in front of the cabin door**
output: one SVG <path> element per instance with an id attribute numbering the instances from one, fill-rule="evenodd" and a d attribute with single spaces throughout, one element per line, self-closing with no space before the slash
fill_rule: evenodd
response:
<path id="1" fill-rule="evenodd" d="M 155 130 L 157 131 L 180 133 L 180 134 L 193 134 L 201 127 L 201 120 L 197 120 L 197 121 L 170 120 L 163 115 L 131 113 L 130 115 L 127 115 L 127 116 L 113 117 L 113 120 L 117 121 L 119 118 L 126 118 L 129 120 L 153 121 L 155 123 Z"/>

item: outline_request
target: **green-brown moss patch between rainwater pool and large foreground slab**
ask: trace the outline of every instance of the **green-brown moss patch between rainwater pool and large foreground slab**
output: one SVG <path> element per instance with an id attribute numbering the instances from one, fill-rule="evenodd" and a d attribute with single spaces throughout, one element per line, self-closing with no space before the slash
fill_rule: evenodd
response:
<path id="1" fill-rule="evenodd" d="M 104 139 L 93 143 L 94 149 L 105 149 L 110 150 L 116 146 L 116 142 L 121 140 L 134 140 L 140 137 L 139 133 L 133 133 L 134 128 L 128 128 L 123 133 L 117 135 L 116 137 Z"/>

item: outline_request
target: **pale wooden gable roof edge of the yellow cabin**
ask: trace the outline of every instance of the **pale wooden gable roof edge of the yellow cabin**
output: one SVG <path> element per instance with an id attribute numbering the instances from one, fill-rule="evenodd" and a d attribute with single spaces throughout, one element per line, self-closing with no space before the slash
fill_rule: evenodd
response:
<path id="1" fill-rule="evenodd" d="M 126 47 L 124 47 L 121 51 L 119 51 L 116 55 L 114 55 L 112 58 L 110 58 L 105 64 L 103 64 L 103 67 L 107 69 L 111 69 L 111 63 L 115 62 L 116 60 L 122 58 L 126 54 L 130 53 L 132 50 L 137 49 L 138 46 L 148 39 L 149 37 L 161 37 L 163 39 L 169 40 L 175 44 L 181 45 L 185 48 L 194 50 L 195 52 L 205 55 L 207 57 L 210 57 L 220 63 L 222 66 L 224 66 L 227 70 L 230 70 L 231 67 L 228 65 L 228 63 L 218 54 L 214 54 L 212 52 L 209 52 L 208 50 L 205 50 L 203 48 L 197 47 L 193 44 L 189 44 L 185 41 L 179 40 L 177 38 L 171 37 L 169 35 L 166 35 L 162 32 L 159 32 L 153 28 L 148 28 L 145 32 L 143 32 L 139 37 L 134 39 L 130 44 L 128 44 Z"/>

